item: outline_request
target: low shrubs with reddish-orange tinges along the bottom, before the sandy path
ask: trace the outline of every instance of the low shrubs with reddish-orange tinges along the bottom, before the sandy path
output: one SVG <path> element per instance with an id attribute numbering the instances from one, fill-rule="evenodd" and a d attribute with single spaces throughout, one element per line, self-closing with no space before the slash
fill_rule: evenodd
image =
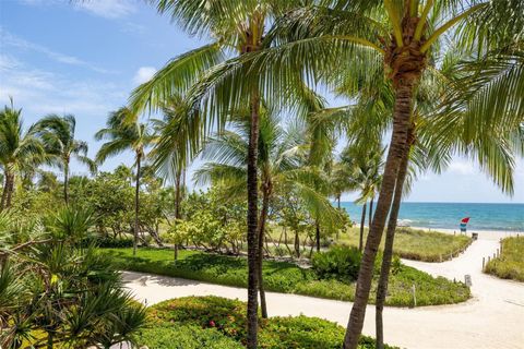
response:
<path id="1" fill-rule="evenodd" d="M 139 342 L 150 349 L 236 349 L 246 344 L 246 303 L 238 300 L 184 297 L 151 306 L 148 315 L 150 328 Z M 341 348 L 345 332 L 335 323 L 303 315 L 259 318 L 259 348 L 271 349 Z M 359 349 L 373 348 L 374 339 L 362 336 Z"/>

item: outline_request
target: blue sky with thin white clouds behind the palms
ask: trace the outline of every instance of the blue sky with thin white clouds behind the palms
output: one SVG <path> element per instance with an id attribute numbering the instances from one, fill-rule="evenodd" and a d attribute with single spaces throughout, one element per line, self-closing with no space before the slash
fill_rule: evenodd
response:
<path id="1" fill-rule="evenodd" d="M 93 135 L 107 115 L 170 59 L 204 43 L 141 0 L 0 0 L 0 106 L 12 97 L 26 127 L 48 113 L 74 115 L 76 139 L 94 156 L 102 143 Z M 122 163 L 131 165 L 132 154 L 102 170 Z M 72 172 L 87 170 L 73 164 Z M 524 203 L 522 159 L 515 183 L 513 197 L 504 195 L 477 164 L 457 157 L 444 173 L 421 176 L 406 200 Z"/>

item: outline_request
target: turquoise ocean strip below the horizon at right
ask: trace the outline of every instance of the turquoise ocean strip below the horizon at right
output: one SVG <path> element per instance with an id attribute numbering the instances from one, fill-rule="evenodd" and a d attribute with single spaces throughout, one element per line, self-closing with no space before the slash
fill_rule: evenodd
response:
<path id="1" fill-rule="evenodd" d="M 336 203 L 334 203 L 336 205 Z M 360 224 L 362 206 L 342 202 L 352 220 Z M 369 205 L 368 205 L 369 209 Z M 366 213 L 368 216 L 368 213 Z M 410 227 L 460 230 L 469 217 L 467 230 L 524 231 L 524 204 L 403 203 L 400 222 Z M 366 217 L 366 225 L 368 224 Z"/>

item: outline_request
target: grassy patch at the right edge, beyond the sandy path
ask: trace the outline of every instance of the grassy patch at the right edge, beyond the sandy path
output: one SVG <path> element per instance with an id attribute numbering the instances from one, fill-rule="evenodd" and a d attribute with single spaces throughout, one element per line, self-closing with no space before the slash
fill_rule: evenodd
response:
<path id="1" fill-rule="evenodd" d="M 524 237 L 502 240 L 502 252 L 486 265 L 485 272 L 503 279 L 524 281 Z"/>

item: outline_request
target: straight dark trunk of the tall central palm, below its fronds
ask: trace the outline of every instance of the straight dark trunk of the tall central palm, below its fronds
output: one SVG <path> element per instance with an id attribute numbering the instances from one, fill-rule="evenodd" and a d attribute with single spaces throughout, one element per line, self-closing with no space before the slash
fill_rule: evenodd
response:
<path id="1" fill-rule="evenodd" d="M 251 124 L 248 148 L 248 348 L 255 349 L 258 344 L 258 216 L 259 181 L 257 157 L 259 145 L 260 97 L 251 94 Z"/>

